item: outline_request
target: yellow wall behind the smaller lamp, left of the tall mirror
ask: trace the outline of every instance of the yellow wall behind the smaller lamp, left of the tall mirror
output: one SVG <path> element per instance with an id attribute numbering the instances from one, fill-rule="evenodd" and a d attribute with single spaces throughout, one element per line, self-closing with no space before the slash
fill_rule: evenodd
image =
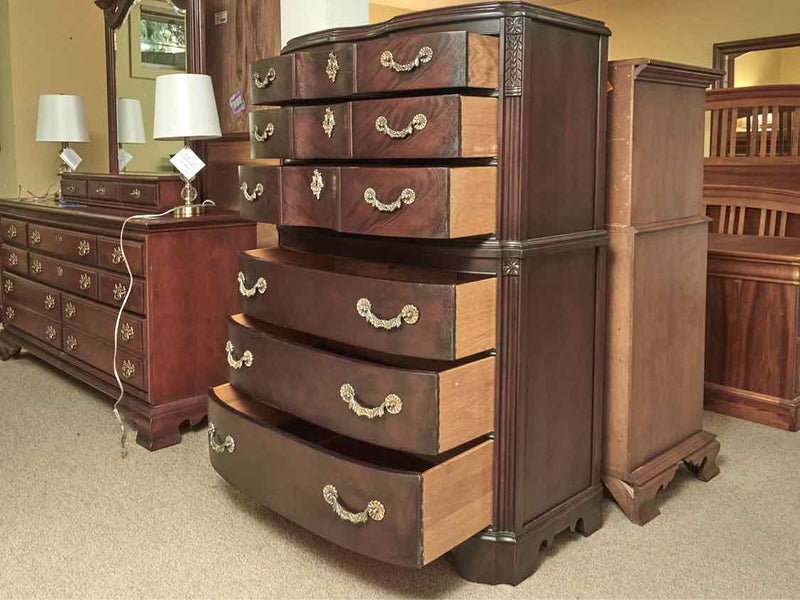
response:
<path id="1" fill-rule="evenodd" d="M 91 142 L 74 145 L 83 157 L 79 170 L 107 172 L 103 12 L 88 0 L 70 0 L 68 11 L 64 0 L 4 1 L 8 4 L 16 179 L 35 194 L 43 194 L 56 182 L 59 145 L 35 141 L 39 95 L 52 93 L 83 96 Z M 1 56 L 0 50 L 0 61 Z"/>

